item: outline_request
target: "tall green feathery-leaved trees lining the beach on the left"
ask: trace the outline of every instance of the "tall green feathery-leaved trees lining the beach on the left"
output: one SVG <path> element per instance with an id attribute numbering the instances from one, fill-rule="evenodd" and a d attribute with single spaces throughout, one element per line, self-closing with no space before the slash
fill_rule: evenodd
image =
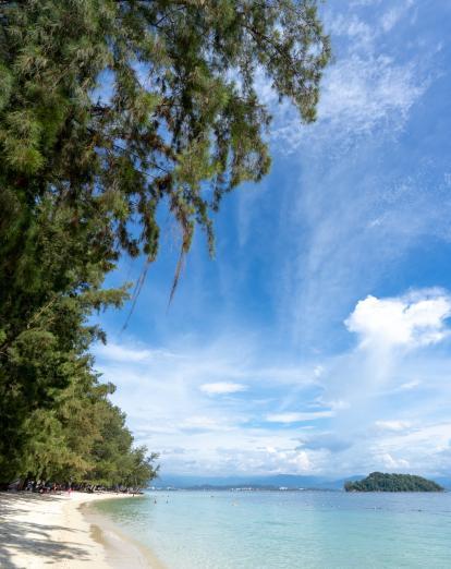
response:
<path id="1" fill-rule="evenodd" d="M 93 313 L 158 210 L 212 249 L 221 197 L 269 169 L 257 80 L 310 122 L 330 47 L 315 0 L 0 0 L 0 481 L 155 475 L 108 399 Z M 139 291 L 142 280 L 135 288 Z"/>

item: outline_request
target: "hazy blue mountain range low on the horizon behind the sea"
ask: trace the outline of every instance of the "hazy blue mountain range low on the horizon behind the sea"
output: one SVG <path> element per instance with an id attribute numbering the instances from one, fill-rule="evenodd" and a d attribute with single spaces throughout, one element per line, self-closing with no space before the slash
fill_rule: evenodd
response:
<path id="1" fill-rule="evenodd" d="M 227 488 L 315 488 L 342 491 L 346 482 L 354 482 L 364 479 L 363 474 L 355 474 L 345 479 L 330 479 L 326 476 L 301 476 L 295 474 L 275 474 L 267 476 L 194 476 L 181 474 L 163 474 L 153 481 L 151 485 L 156 488 L 180 488 L 180 489 L 227 489 Z M 451 477 L 432 477 L 435 482 L 451 489 Z"/>

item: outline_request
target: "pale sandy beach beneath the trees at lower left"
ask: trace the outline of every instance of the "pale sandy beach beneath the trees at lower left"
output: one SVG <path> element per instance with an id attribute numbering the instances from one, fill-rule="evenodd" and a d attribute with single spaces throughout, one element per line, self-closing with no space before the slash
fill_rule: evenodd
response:
<path id="1" fill-rule="evenodd" d="M 161 569 L 150 552 L 86 508 L 95 500 L 126 497 L 77 492 L 71 496 L 0 493 L 0 567 Z"/>

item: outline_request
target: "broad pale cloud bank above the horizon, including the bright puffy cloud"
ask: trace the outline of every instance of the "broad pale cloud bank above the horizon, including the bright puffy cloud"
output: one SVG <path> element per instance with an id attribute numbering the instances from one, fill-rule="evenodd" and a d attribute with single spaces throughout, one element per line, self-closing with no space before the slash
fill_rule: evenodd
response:
<path id="1" fill-rule="evenodd" d="M 451 384 L 440 371 L 451 362 L 437 346 L 448 343 L 450 306 L 443 290 L 368 296 L 343 323 L 355 344 L 304 365 L 267 367 L 255 339 L 223 337 L 170 350 L 111 343 L 98 367 L 168 472 L 444 472 Z"/>

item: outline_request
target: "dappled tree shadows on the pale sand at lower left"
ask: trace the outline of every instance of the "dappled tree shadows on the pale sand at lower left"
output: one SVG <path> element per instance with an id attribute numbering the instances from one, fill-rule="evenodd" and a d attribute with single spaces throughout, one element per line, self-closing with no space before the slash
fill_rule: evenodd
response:
<path id="1" fill-rule="evenodd" d="M 45 519 L 40 523 L 26 521 L 13 521 L 10 516 L 13 513 L 26 513 L 29 511 L 29 503 L 33 500 L 57 500 L 53 496 L 39 495 L 0 495 L 0 567 L 17 569 L 20 566 L 13 562 L 12 553 L 33 554 L 42 557 L 46 562 L 53 564 L 62 560 L 76 559 L 78 561 L 88 560 L 88 552 L 80 544 L 71 542 L 58 542 L 52 538 L 51 532 L 64 530 L 74 533 L 74 530 L 61 525 L 46 523 Z M 23 505 L 23 506 L 22 506 Z M 22 506 L 22 507 L 21 507 Z M 28 507 L 27 507 L 28 506 Z"/>

